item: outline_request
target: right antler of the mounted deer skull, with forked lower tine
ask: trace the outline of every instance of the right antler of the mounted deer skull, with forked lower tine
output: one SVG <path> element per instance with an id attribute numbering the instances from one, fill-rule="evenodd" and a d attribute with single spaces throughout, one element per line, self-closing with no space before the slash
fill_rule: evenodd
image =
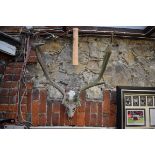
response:
<path id="1" fill-rule="evenodd" d="M 91 82 L 88 85 L 82 87 L 80 89 L 80 93 L 82 91 L 86 90 L 86 89 L 89 89 L 91 87 L 94 87 L 94 86 L 101 85 L 101 84 L 105 83 L 105 82 L 100 82 L 100 80 L 103 77 L 103 74 L 104 74 L 104 72 L 106 70 L 106 67 L 107 67 L 107 64 L 108 64 L 108 61 L 109 61 L 109 58 L 110 58 L 110 55 L 111 55 L 111 47 L 112 47 L 112 45 L 108 45 L 107 48 L 105 49 L 105 56 L 104 56 L 104 59 L 103 59 L 103 62 L 102 62 L 101 71 L 99 73 L 98 78 L 94 82 Z"/>

